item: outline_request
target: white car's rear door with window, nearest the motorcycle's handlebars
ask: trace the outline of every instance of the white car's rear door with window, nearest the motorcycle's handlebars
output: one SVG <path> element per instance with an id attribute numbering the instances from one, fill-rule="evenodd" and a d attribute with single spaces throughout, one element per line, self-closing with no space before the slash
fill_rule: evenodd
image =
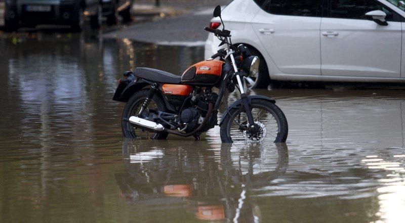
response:
<path id="1" fill-rule="evenodd" d="M 320 75 L 320 0 L 255 0 L 252 26 L 282 73 Z M 271 69 L 271 67 L 270 67 Z"/>

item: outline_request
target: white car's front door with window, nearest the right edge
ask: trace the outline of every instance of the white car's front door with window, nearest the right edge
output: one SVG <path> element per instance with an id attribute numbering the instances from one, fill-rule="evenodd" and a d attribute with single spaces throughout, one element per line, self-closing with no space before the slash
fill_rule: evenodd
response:
<path id="1" fill-rule="evenodd" d="M 400 77 L 401 16 L 377 0 L 328 2 L 320 25 L 322 75 Z M 374 10 L 387 14 L 387 26 L 366 18 Z"/>

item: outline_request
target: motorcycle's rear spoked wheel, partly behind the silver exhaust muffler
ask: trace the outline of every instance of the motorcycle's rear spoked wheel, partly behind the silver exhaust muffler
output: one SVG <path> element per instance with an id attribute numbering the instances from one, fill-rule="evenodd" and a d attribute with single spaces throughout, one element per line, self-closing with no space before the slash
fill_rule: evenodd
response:
<path id="1" fill-rule="evenodd" d="M 125 138 L 136 138 L 136 139 L 167 139 L 168 133 L 154 133 L 147 130 L 139 129 L 132 125 L 128 121 L 124 121 L 124 118 L 130 118 L 131 116 L 138 116 L 141 110 L 142 104 L 145 102 L 148 90 L 143 90 L 137 92 L 133 95 L 130 100 L 128 100 L 124 112 L 123 120 L 121 120 L 121 127 L 123 130 L 123 135 Z M 165 103 L 158 98 L 156 95 L 153 96 L 149 105 L 146 107 L 145 111 L 142 113 L 140 118 L 147 119 L 149 117 L 149 109 L 156 109 L 159 111 L 166 111 Z"/>

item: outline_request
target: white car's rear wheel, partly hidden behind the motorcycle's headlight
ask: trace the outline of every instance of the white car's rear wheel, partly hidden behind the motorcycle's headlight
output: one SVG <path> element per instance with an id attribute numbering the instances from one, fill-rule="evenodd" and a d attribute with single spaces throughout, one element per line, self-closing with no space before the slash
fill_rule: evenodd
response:
<path id="1" fill-rule="evenodd" d="M 253 56 L 258 56 L 260 59 L 259 73 L 255 77 L 245 78 L 246 84 L 249 88 L 267 88 L 270 83 L 269 70 L 263 56 L 259 51 L 249 48 Z"/>

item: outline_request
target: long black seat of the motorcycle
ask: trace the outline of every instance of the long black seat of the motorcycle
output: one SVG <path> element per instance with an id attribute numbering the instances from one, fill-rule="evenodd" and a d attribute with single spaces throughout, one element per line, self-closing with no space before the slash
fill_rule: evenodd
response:
<path id="1" fill-rule="evenodd" d="M 181 82 L 181 76 L 162 71 L 162 70 L 156 70 L 152 68 L 146 68 L 146 67 L 138 67 L 135 68 L 134 73 L 136 76 L 151 80 L 151 81 L 156 81 L 156 82 L 161 82 L 161 83 L 180 83 Z"/>

